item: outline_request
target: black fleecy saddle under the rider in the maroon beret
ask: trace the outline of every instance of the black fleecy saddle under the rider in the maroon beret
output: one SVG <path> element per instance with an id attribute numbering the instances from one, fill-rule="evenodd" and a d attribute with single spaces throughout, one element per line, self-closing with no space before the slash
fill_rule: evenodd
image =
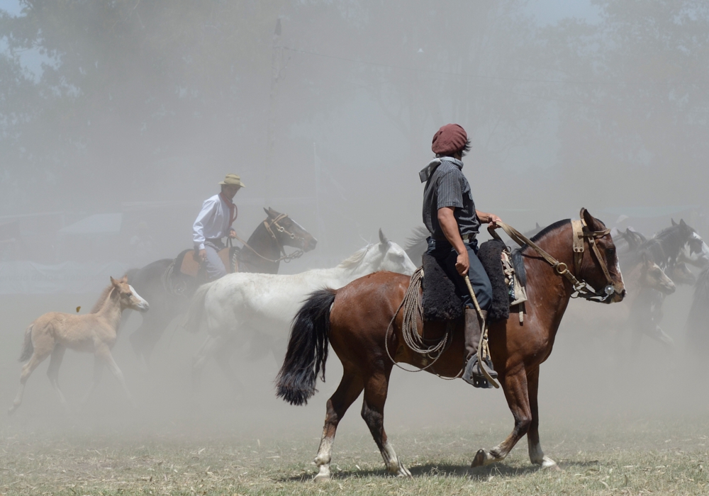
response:
<path id="1" fill-rule="evenodd" d="M 507 320 L 510 307 L 520 305 L 520 322 L 524 315 L 526 274 L 517 250 L 510 250 L 496 239 L 481 244 L 478 258 L 492 285 L 493 300 L 488 321 Z M 463 318 L 463 302 L 456 293 L 453 281 L 430 254 L 423 254 L 423 320 L 446 322 Z"/>

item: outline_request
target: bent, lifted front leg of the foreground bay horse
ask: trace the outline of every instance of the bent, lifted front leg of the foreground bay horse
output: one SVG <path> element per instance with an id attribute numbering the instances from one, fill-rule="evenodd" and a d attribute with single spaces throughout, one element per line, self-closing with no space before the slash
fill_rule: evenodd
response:
<path id="1" fill-rule="evenodd" d="M 510 451 L 515 447 L 517 441 L 527 434 L 527 430 L 532 424 L 532 412 L 530 411 L 530 401 L 527 396 L 527 374 L 525 368 L 520 364 L 518 370 L 501 376 L 501 384 L 505 391 L 507 404 L 510 407 L 513 417 L 515 417 L 515 428 L 501 444 L 498 444 L 490 451 L 479 450 L 473 458 L 472 467 L 481 467 L 503 461 Z"/>

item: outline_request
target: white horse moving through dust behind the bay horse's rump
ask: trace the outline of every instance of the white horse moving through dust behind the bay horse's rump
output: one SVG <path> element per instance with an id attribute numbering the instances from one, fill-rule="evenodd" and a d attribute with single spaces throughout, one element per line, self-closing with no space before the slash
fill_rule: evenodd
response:
<path id="1" fill-rule="evenodd" d="M 416 266 L 395 242 L 379 230 L 379 243 L 369 244 L 332 269 L 313 269 L 301 274 L 228 274 L 200 286 L 189 308 L 184 327 L 196 332 L 206 313 L 208 337 L 194 357 L 192 377 L 199 376 L 213 357 L 238 393 L 242 385 L 230 370 L 234 346 L 256 339 L 283 342 L 291 320 L 308 295 L 320 288 L 342 288 L 376 271 L 411 275 Z M 277 357 L 277 360 L 280 357 Z"/>

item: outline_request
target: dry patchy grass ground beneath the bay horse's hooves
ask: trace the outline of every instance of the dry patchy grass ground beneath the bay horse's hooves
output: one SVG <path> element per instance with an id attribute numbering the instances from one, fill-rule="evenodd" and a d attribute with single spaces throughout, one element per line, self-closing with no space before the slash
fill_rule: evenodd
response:
<path id="1" fill-rule="evenodd" d="M 542 432 L 561 471 L 530 465 L 526 443 L 505 463 L 470 469 L 476 449 L 508 434 L 506 422 L 480 436 L 462 427 L 397 429 L 393 443 L 413 478 L 384 472 L 367 435 L 342 432 L 333 480 L 312 482 L 315 436 L 248 434 L 149 437 L 4 432 L 4 495 L 700 495 L 709 492 L 705 419 L 561 425 Z M 264 429 L 265 431 L 266 429 Z"/>

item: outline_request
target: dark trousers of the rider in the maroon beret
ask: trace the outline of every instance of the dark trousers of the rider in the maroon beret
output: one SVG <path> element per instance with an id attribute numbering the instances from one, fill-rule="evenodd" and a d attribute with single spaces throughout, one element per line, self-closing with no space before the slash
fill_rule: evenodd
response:
<path id="1" fill-rule="evenodd" d="M 468 259 L 470 261 L 468 277 L 470 278 L 471 286 L 473 286 L 473 291 L 475 291 L 475 298 L 477 298 L 481 310 L 489 310 L 490 305 L 492 305 L 492 285 L 477 256 L 478 242 L 473 240 L 464 244 L 468 250 Z M 453 281 L 455 292 L 463 300 L 463 304 L 467 308 L 475 308 L 465 279 L 455 269 L 455 261 L 458 258 L 458 254 L 452 245 L 446 239 L 428 238 L 427 253 L 438 261 L 438 264 L 448 274 L 450 280 Z"/>

